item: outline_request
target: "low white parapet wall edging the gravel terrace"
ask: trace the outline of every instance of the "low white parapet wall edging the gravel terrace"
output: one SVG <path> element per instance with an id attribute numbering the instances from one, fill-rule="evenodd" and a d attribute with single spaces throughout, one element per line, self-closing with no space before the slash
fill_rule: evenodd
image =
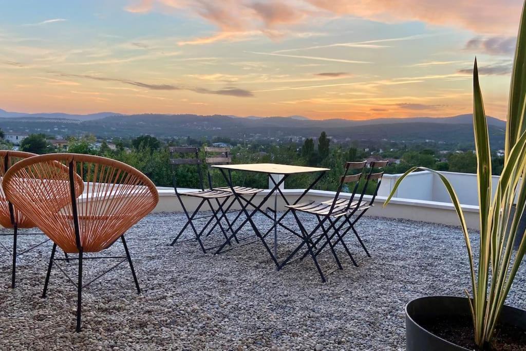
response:
<path id="1" fill-rule="evenodd" d="M 460 198 L 464 217 L 469 228 L 478 229 L 479 227 L 479 207 L 477 195 L 477 175 L 467 173 L 452 173 L 442 172 L 446 176 Z M 440 178 L 430 172 L 418 172 L 409 175 L 400 185 L 391 200 L 391 203 L 384 207 L 387 196 L 393 189 L 396 181 L 400 178 L 400 174 L 384 175 L 378 196 L 375 199 L 374 206 L 368 210 L 368 216 L 380 216 L 388 218 L 400 218 L 419 220 L 422 222 L 439 223 L 446 225 L 459 225 L 459 219 L 451 199 L 449 198 L 446 189 L 441 183 Z M 275 175 L 278 179 L 279 175 Z M 497 184 L 498 177 L 494 177 L 494 186 Z M 175 195 L 173 188 L 158 187 L 159 203 L 153 212 L 181 212 L 183 208 Z M 196 191 L 196 189 L 180 189 L 180 193 Z M 270 190 L 263 190 L 255 196 L 253 203 L 258 205 L 261 200 L 268 194 Z M 289 203 L 294 203 L 297 198 L 304 192 L 304 189 L 284 189 L 282 193 L 286 196 Z M 323 190 L 310 190 L 309 193 L 302 199 L 302 202 L 316 201 L 322 202 L 334 198 L 335 192 L 328 192 Z M 350 194 L 340 194 L 341 197 L 350 197 Z M 83 196 L 85 197 L 85 195 Z M 190 211 L 198 206 L 200 199 L 190 196 L 181 196 L 185 207 Z M 366 196 L 370 200 L 370 196 Z M 89 201 L 86 197 L 84 201 Z M 215 200 L 213 200 L 215 205 Z M 274 208 L 275 196 L 272 195 L 267 203 L 262 206 L 263 209 L 267 207 Z M 277 197 L 277 209 L 279 211 L 285 210 L 286 203 L 280 196 Z M 232 206 L 232 209 L 239 209 L 238 203 Z M 249 207 L 250 209 L 252 207 Z M 201 210 L 209 210 L 208 206 L 203 206 Z"/>

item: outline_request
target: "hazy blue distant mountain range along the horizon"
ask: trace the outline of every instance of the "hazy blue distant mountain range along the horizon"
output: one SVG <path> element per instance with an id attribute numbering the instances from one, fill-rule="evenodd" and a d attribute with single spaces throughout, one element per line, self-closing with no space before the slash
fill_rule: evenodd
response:
<path id="1" fill-rule="evenodd" d="M 339 141 L 382 139 L 405 142 L 433 140 L 444 143 L 472 143 L 472 115 L 453 117 L 409 117 L 350 119 L 308 119 L 303 116 L 200 116 L 191 114 L 122 115 L 101 112 L 89 115 L 64 113 L 24 114 L 0 110 L 0 128 L 18 133 L 97 137 L 134 137 L 150 134 L 171 137 L 230 137 L 234 139 L 285 139 L 317 137 L 326 131 Z M 505 122 L 488 117 L 492 146 L 502 148 Z"/>

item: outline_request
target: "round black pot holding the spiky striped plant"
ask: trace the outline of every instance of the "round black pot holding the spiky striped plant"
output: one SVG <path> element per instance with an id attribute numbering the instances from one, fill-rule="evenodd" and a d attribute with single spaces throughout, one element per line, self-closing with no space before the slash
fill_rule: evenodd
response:
<path id="1" fill-rule="evenodd" d="M 450 343 L 422 327 L 427 321 L 440 317 L 470 317 L 468 299 L 456 296 L 426 296 L 406 305 L 407 351 L 469 350 Z M 526 311 L 510 306 L 502 309 L 501 323 L 526 329 Z"/>

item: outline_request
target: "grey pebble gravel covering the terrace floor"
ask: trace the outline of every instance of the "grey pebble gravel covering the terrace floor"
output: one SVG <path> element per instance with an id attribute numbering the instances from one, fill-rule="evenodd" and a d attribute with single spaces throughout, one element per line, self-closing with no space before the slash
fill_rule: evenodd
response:
<path id="1" fill-rule="evenodd" d="M 10 258 L 2 253 L 0 350 L 404 349 L 403 308 L 410 299 L 463 295 L 470 286 L 456 227 L 365 218 L 357 228 L 372 258 L 356 268 L 340 249 L 344 269 L 323 284 L 311 259 L 277 272 L 259 244 L 218 256 L 201 253 L 193 240 L 167 246 L 183 223 L 181 214 L 151 214 L 129 230 L 143 293 L 136 294 L 127 265 L 119 266 L 84 290 L 80 333 L 74 332 L 76 289 L 58 269 L 48 297 L 40 297 L 50 244 L 19 258 L 14 290 L 8 288 Z M 37 238 L 21 237 L 20 246 Z M 10 238 L 0 240 L 11 245 Z M 279 240 L 284 258 L 297 240 L 285 233 Z M 363 254 L 356 239 L 346 241 L 356 256 Z M 476 249 L 476 235 L 473 242 Z M 119 243 L 108 251 L 122 250 Z M 335 268 L 331 258 L 327 252 L 320 259 L 326 272 Z M 109 264 L 86 260 L 85 282 Z M 62 266 L 75 277 L 75 264 Z M 524 276 L 521 269 L 508 300 L 521 308 Z"/>

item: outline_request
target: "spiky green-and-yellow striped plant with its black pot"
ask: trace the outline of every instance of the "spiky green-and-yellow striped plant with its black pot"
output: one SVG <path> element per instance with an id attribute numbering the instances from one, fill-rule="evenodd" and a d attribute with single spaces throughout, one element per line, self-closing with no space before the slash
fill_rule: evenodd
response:
<path id="1" fill-rule="evenodd" d="M 526 2 L 517 37 L 511 77 L 504 167 L 492 195 L 491 152 L 488 126 L 480 91 L 477 59 L 473 68 L 473 129 L 477 154 L 480 208 L 480 248 L 476 259 L 458 197 L 448 179 L 425 167 L 413 167 L 400 182 L 417 170 L 437 174 L 446 186 L 466 240 L 471 275 L 467 297 L 430 296 L 406 306 L 407 349 L 498 350 L 526 347 L 526 311 L 505 306 L 513 279 L 526 252 L 526 236 L 519 229 L 526 207 Z M 513 250 L 517 237 L 518 249 Z"/>

